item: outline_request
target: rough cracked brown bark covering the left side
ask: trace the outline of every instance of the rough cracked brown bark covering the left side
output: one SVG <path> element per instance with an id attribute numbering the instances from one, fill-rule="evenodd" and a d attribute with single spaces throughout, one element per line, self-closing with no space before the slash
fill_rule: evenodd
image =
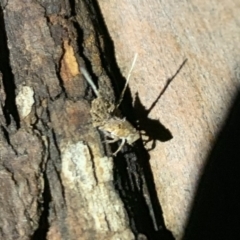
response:
<path id="1" fill-rule="evenodd" d="M 113 161 L 111 146 L 92 126 L 94 96 L 79 67 L 90 71 L 112 101 L 110 77 L 119 78 L 107 64 L 111 40 L 101 35 L 106 30 L 96 4 L 0 3 L 0 238 L 129 240 L 165 234 L 143 177 L 142 144 L 137 151 L 125 146 Z"/>

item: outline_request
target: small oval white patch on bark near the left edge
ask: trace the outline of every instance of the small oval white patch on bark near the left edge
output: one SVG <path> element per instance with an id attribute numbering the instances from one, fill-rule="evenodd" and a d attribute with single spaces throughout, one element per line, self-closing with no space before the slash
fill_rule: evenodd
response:
<path id="1" fill-rule="evenodd" d="M 34 91 L 29 86 L 21 86 L 16 97 L 16 104 L 21 118 L 27 117 L 34 104 Z"/>

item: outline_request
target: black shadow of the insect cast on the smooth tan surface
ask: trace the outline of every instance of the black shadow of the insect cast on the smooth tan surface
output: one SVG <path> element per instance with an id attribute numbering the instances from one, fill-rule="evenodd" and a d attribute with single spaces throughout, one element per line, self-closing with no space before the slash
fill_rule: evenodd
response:
<path id="1" fill-rule="evenodd" d="M 160 122 L 160 120 L 157 119 L 151 119 L 149 118 L 149 114 L 152 111 L 152 109 L 156 106 L 157 102 L 160 100 L 164 92 L 167 90 L 170 83 L 173 81 L 173 79 L 178 75 L 178 73 L 181 71 L 185 63 L 187 62 L 187 59 L 183 61 L 183 63 L 180 65 L 176 73 L 167 80 L 167 83 L 165 87 L 162 89 L 162 91 L 159 93 L 156 100 L 152 103 L 151 107 L 149 109 L 146 109 L 140 98 L 139 94 L 136 93 L 135 95 L 135 101 L 134 101 L 134 109 L 137 119 L 137 128 L 141 132 L 142 136 L 146 136 L 147 139 L 143 140 L 143 144 L 146 146 L 147 143 L 152 142 L 151 146 L 148 151 L 153 150 L 156 147 L 156 141 L 160 142 L 166 142 L 173 138 L 171 132 L 169 129 L 164 127 L 164 125 Z"/>

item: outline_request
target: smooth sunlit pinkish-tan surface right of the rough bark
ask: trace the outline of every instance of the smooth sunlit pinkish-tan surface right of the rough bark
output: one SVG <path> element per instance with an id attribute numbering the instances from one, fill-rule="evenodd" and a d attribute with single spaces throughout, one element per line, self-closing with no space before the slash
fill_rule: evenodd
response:
<path id="1" fill-rule="evenodd" d="M 240 2 L 99 0 L 99 5 L 123 75 L 139 54 L 130 80 L 133 97 L 137 93 L 135 112 L 140 122 L 143 118 L 142 128 L 157 140 L 149 152 L 155 186 L 166 226 L 181 239 L 208 154 L 239 89 Z M 172 139 L 164 137 L 166 129 Z M 229 163 L 224 164 L 227 171 Z M 215 188 L 230 177 L 224 170 L 221 174 Z M 238 188 L 228 187 L 233 186 Z M 222 201 L 228 203 L 228 198 L 224 195 Z M 218 199 L 206 203 L 213 209 L 214 201 Z M 206 215 L 200 227 L 204 237 L 190 239 L 215 239 L 205 227 L 217 217 Z"/>

